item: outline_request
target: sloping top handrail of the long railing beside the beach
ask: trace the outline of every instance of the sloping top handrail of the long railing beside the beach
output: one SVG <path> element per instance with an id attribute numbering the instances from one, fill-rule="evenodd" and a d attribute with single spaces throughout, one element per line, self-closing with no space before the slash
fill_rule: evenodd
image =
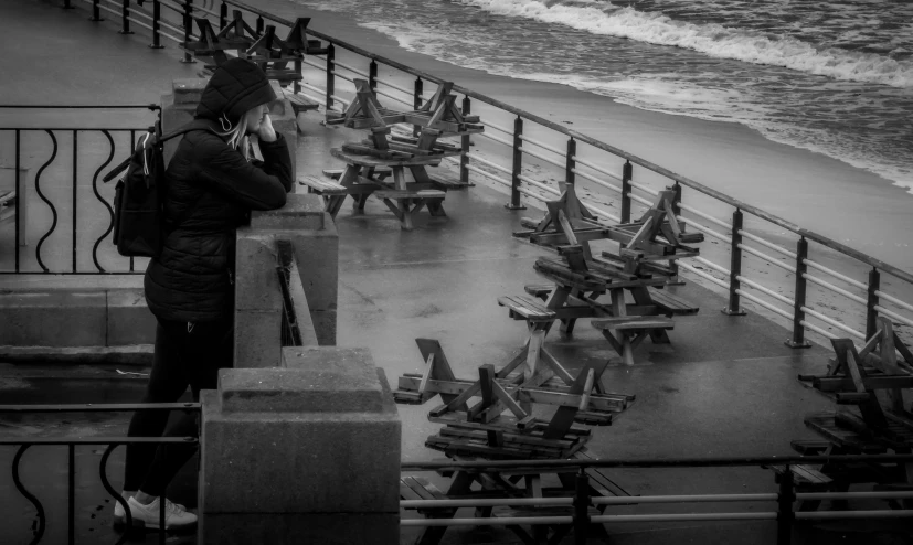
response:
<path id="1" fill-rule="evenodd" d="M 237 0 L 230 0 L 227 3 L 231 3 L 232 6 L 237 6 L 240 8 L 246 9 L 247 11 L 251 11 L 251 12 L 254 12 L 254 13 L 258 13 L 264 18 L 267 18 L 272 21 L 276 21 L 278 23 L 282 23 L 282 24 L 284 24 L 288 28 L 291 28 L 291 25 L 294 24 L 291 21 L 287 21 L 285 19 L 278 18 L 276 15 L 265 13 L 265 12 L 263 12 L 263 10 L 258 10 L 258 9 L 252 7 L 252 6 L 248 6 L 244 2 L 240 2 Z M 407 74 L 412 74 L 412 75 L 421 77 L 423 79 L 427 79 L 428 82 L 435 83 L 437 85 L 444 83 L 444 79 L 442 79 L 437 76 L 434 76 L 434 75 L 432 75 L 427 72 L 423 72 L 423 71 L 413 68 L 412 66 L 405 65 L 405 64 L 400 63 L 397 61 L 393 61 L 392 58 L 383 57 L 381 55 L 372 53 L 372 52 L 370 52 L 368 50 L 364 50 L 362 47 L 359 47 L 357 45 L 353 45 L 353 44 L 350 44 L 350 43 L 344 42 L 342 40 L 338 40 L 338 39 L 335 39 L 332 36 L 327 35 L 327 34 L 323 34 L 322 32 L 318 32 L 316 30 L 308 29 L 307 33 L 315 36 L 315 38 L 318 38 L 320 40 L 323 40 L 323 41 L 333 43 L 336 45 L 339 45 L 341 47 L 344 47 L 344 49 L 347 49 L 347 50 L 349 50 L 353 53 L 357 53 L 359 55 L 365 56 L 368 58 L 372 58 L 372 60 L 374 60 L 379 63 L 383 63 L 388 66 L 399 68 L 399 70 L 401 70 L 401 71 L 403 71 Z M 549 128 L 549 129 L 552 129 L 556 132 L 561 132 L 565 136 L 572 137 L 572 138 L 581 141 L 581 142 L 583 142 L 583 143 L 587 143 L 590 146 L 593 146 L 594 148 L 598 148 L 603 151 L 607 151 L 607 152 L 613 153 L 615 156 L 627 159 L 628 161 L 630 161 L 633 163 L 639 164 L 639 165 L 641 165 L 641 167 L 644 167 L 648 170 L 651 170 L 651 171 L 656 172 L 657 174 L 661 174 L 666 178 L 669 178 L 670 180 L 672 180 L 675 182 L 678 182 L 682 185 L 687 185 L 687 186 L 689 186 L 689 188 L 691 188 L 696 191 L 699 191 L 699 192 L 701 192 L 705 195 L 712 196 L 712 197 L 716 199 L 718 201 L 722 201 L 726 204 L 730 204 L 732 206 L 741 209 L 743 212 L 747 212 L 747 213 L 750 213 L 750 214 L 752 214 L 756 217 L 760 217 L 760 218 L 765 220 L 769 223 L 773 223 L 774 225 L 778 225 L 778 226 L 781 226 L 785 229 L 792 231 L 793 233 L 796 233 L 797 235 L 800 235 L 800 236 L 804 236 L 808 239 L 815 241 L 818 244 L 822 244 L 822 245 L 825 245 L 825 246 L 827 246 L 831 249 L 836 249 L 838 252 L 841 252 L 841 253 L 843 253 L 843 254 L 846 254 L 850 257 L 853 257 L 853 258 L 856 258 L 860 261 L 867 263 L 867 264 L 869 264 L 873 267 L 878 267 L 878 268 L 884 270 L 885 272 L 889 272 L 889 274 L 898 277 L 899 279 L 902 279 L 902 280 L 905 280 L 907 282 L 913 284 L 913 274 L 911 274 L 911 272 L 907 272 L 907 271 L 902 270 L 898 267 L 889 265 L 889 264 L 887 264 L 887 263 L 884 263 L 880 259 L 875 259 L 874 257 L 871 257 L 869 255 L 862 254 L 861 252 L 858 252 L 853 248 L 850 248 L 849 246 L 840 244 L 837 241 L 834 241 L 834 239 L 828 238 L 826 236 L 819 235 L 815 232 L 801 228 L 801 227 L 799 227 L 798 225 L 796 225 L 792 222 L 787 222 L 786 220 L 783 220 L 782 217 L 775 216 L 775 215 L 773 215 L 768 212 L 765 212 L 765 211 L 763 211 L 758 207 L 755 207 L 755 206 L 752 206 L 750 204 L 743 203 L 742 201 L 739 201 L 737 199 L 733 199 L 733 197 L 731 197 L 731 196 L 729 196 L 729 195 L 726 195 L 726 194 L 724 194 L 720 191 L 711 189 L 711 188 L 709 188 L 709 186 L 707 186 L 702 183 L 696 182 L 694 180 L 691 180 L 691 179 L 689 179 L 687 177 L 683 177 L 681 174 L 677 174 L 677 173 L 675 173 L 675 172 L 672 172 L 668 169 L 659 167 L 658 164 L 655 164 L 650 161 L 641 159 L 640 157 L 637 157 L 635 154 L 628 153 L 628 152 L 626 152 L 626 151 L 624 151 L 619 148 L 611 146 L 611 145 L 608 145 L 606 142 L 603 142 L 601 140 L 596 140 L 593 137 L 580 133 L 575 130 L 567 129 L 566 127 L 563 127 L 558 122 L 550 121 L 550 120 L 548 120 L 543 117 L 537 116 L 537 115 L 531 114 L 531 113 L 525 111 L 525 110 L 522 110 L 520 108 L 511 106 L 511 105 L 509 105 L 507 103 L 503 103 L 501 100 L 498 100 L 496 98 L 491 98 L 491 97 L 482 95 L 480 93 L 476 93 L 475 90 L 467 89 L 467 88 L 458 86 L 458 85 L 454 85 L 453 90 L 456 92 L 456 93 L 464 94 L 464 95 L 466 95 L 470 98 L 475 98 L 477 100 L 486 103 L 490 106 L 495 106 L 495 107 L 500 108 L 502 110 L 509 111 L 509 113 L 514 114 L 517 116 L 520 116 L 522 118 L 529 119 L 529 120 L 531 120 L 533 122 L 537 122 L 537 124 L 539 124 L 539 125 L 541 125 L 545 128 Z M 508 133 L 510 133 L 510 131 L 508 131 Z"/>

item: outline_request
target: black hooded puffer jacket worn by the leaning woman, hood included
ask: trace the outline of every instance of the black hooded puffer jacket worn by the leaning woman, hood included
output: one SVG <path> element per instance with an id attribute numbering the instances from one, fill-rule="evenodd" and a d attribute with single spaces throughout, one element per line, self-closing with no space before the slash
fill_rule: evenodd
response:
<path id="1" fill-rule="evenodd" d="M 276 99 L 253 63 L 232 60 L 220 66 L 203 90 L 198 119 L 220 117 L 235 126 L 248 109 Z M 274 210 L 291 189 L 291 159 L 280 133 L 259 142 L 263 162 L 209 131 L 188 132 L 168 164 L 166 218 L 174 224 L 159 257 L 149 263 L 146 301 L 156 317 L 185 322 L 215 321 L 234 309 L 235 229 L 251 210 Z"/>

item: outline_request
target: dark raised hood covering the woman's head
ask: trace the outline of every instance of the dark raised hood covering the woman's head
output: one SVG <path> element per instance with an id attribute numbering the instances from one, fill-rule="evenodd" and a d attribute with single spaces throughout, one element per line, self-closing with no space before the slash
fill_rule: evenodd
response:
<path id="1" fill-rule="evenodd" d="M 197 117 L 217 120 L 224 114 L 234 126 L 251 108 L 275 99 L 269 79 L 256 64 L 231 58 L 215 68 L 203 89 Z"/>

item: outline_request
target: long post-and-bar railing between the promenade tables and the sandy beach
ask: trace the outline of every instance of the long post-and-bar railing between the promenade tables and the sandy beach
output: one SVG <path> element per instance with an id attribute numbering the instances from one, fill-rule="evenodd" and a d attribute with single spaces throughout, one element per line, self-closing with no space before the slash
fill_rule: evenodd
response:
<path id="1" fill-rule="evenodd" d="M 98 14 L 99 0 L 83 1 L 93 6 L 94 15 Z M 129 6 L 129 0 L 106 1 L 120 7 L 119 10 L 110 9 L 110 11 L 120 14 L 124 20 L 121 31 L 128 29 L 127 24 L 130 22 L 131 14 L 136 13 L 136 8 Z M 174 0 L 174 2 L 155 0 L 153 8 L 161 3 L 171 8 L 176 13 L 181 13 L 185 39 L 191 35 L 189 23 L 193 13 L 217 18 L 220 25 L 224 26 L 229 7 L 255 15 L 257 32 L 262 32 L 265 21 L 285 28 L 290 28 L 293 24 L 291 21 L 236 0 L 222 0 L 219 13 L 194 6 L 192 1 Z M 70 0 L 64 0 L 64 4 L 68 7 Z M 152 24 L 149 25 L 151 28 L 158 28 L 157 24 L 163 21 L 160 14 L 156 15 L 156 10 L 149 17 L 151 17 Z M 174 32 L 180 31 L 177 26 L 172 30 Z M 426 84 L 437 85 L 443 83 L 443 79 L 437 76 L 374 54 L 319 31 L 308 29 L 307 33 L 328 43 L 328 53 L 322 62 L 314 60 L 312 56 L 306 56 L 302 62 L 304 66 L 322 71 L 326 82 L 322 87 L 302 82 L 299 86 L 296 85 L 295 90 L 304 89 L 301 95 L 317 101 L 327 109 L 339 110 L 337 103 L 349 104 L 343 96 L 340 96 L 337 85 L 338 79 L 351 82 L 352 76 L 349 74 L 368 77 L 371 87 L 379 95 L 408 107 L 417 107 L 422 104 L 423 93 L 431 90 L 425 89 Z M 153 43 L 159 43 L 159 34 L 166 35 L 161 30 L 153 31 Z M 168 38 L 180 41 L 177 35 Z M 362 57 L 369 63 L 365 68 L 355 65 L 351 61 L 342 63 L 337 58 L 339 51 L 347 51 L 355 58 Z M 189 53 L 184 56 L 184 61 L 188 60 Z M 379 65 L 384 66 L 389 74 L 379 74 Z M 346 71 L 346 73 L 343 74 L 340 71 Z M 402 76 L 415 77 L 412 88 L 394 82 L 394 74 L 400 74 L 401 78 Z M 527 202 L 530 200 L 544 202 L 552 200 L 560 193 L 560 190 L 553 184 L 534 179 L 532 171 L 524 164 L 528 158 L 534 158 L 550 168 L 559 169 L 556 172 L 563 171 L 564 182 L 566 183 L 580 183 L 580 180 L 585 180 L 586 183 L 608 190 L 613 201 L 607 204 L 614 207 L 614 211 L 584 201 L 584 205 L 601 221 L 631 222 L 635 217 L 635 209 L 649 206 L 651 197 L 658 193 L 657 189 L 650 188 L 640 181 L 641 174 L 644 178 L 659 177 L 665 180 L 665 184 L 676 191 L 675 207 L 677 212 L 682 213 L 681 221 L 710 237 L 722 241 L 728 246 L 728 259 L 726 256 L 720 255 L 716 256 L 714 263 L 714 260 L 704 256 L 692 258 L 689 260 L 690 263 L 680 260 L 673 264 L 673 270 L 677 271 L 680 267 L 681 270 L 686 270 L 707 280 L 710 285 L 725 290 L 728 296 L 728 306 L 723 309 L 725 313 L 732 316 L 743 314 L 743 300 L 766 309 L 775 317 L 789 323 L 792 334 L 786 344 L 793 348 L 808 346 L 809 343 L 806 336 L 809 331 L 826 339 L 835 339 L 845 333 L 849 333 L 857 339 L 869 338 L 875 332 L 879 316 L 888 317 L 903 325 L 913 327 L 913 314 L 910 314 L 913 312 L 913 304 L 905 300 L 913 298 L 913 275 L 910 272 L 560 124 L 458 85 L 455 85 L 453 90 L 463 95 L 463 110 L 465 114 L 470 111 L 471 103 L 476 100 L 491 108 L 491 111 L 513 117 L 512 128 L 485 122 L 487 128 L 503 133 L 507 138 L 495 135 L 491 130 L 475 135 L 476 149 L 470 151 L 469 137 L 463 137 L 461 156 L 446 159 L 448 163 L 458 169 L 463 182 L 468 182 L 470 173 L 474 173 L 508 188 L 510 199 L 507 207 L 523 209 L 524 200 Z M 533 131 L 530 130 L 532 128 L 535 129 L 535 132 L 548 135 L 548 138 L 533 138 L 531 136 Z M 563 142 L 563 145 L 550 143 L 545 140 Z M 482 141 L 486 145 L 482 145 Z M 481 157 L 481 149 L 507 152 L 508 157 L 511 158 L 511 163 L 499 164 L 491 157 Z M 639 171 L 635 171 L 635 169 L 639 169 Z M 719 217 L 719 213 L 708 213 L 692 204 L 692 201 L 700 201 L 701 199 L 709 199 L 711 203 L 714 203 L 714 206 L 730 207 L 732 211 L 731 220 L 723 220 Z M 795 248 L 771 242 L 769 237 L 761 236 L 760 232 L 750 232 L 745 228 L 745 215 L 749 215 L 753 222 L 764 225 L 764 228 L 775 227 L 790 233 L 796 237 Z M 712 224 L 712 226 L 709 224 Z M 720 227 L 724 231 L 720 231 Z M 817 245 L 817 247 L 810 248 L 811 244 Z M 758 246 L 763 246 L 765 250 L 760 249 Z M 822 258 L 827 257 L 824 249 L 836 252 L 841 258 L 847 259 L 846 263 L 841 263 L 841 270 L 835 270 L 820 263 Z M 767 250 L 775 254 L 772 255 Z M 815 257 L 819 255 L 820 258 Z M 746 256 L 751 256 L 751 259 L 747 259 Z M 787 261 L 784 261 L 784 259 Z M 761 266 L 769 264 L 782 269 L 783 274 L 787 275 L 787 281 L 792 285 L 792 293 L 777 293 L 775 287 L 764 285 L 757 277 L 749 276 L 747 267 L 758 264 Z M 810 271 L 810 269 L 815 270 Z M 845 269 L 862 270 L 849 271 Z M 820 274 L 828 275 L 829 278 L 822 278 Z M 867 275 L 867 278 L 853 278 L 853 275 Z M 890 277 L 892 285 L 889 286 L 888 279 L 882 279 L 883 275 Z M 835 285 L 835 280 L 846 286 Z M 809 297 L 809 285 L 814 285 L 814 288 L 818 290 L 825 290 L 828 293 L 847 299 L 852 304 L 848 318 L 841 318 L 831 312 L 831 309 L 824 308 L 820 304 L 815 306 Z M 853 290 L 859 291 L 853 292 Z M 853 323 L 848 322 L 859 323 L 853 327 Z M 839 330 L 839 333 L 831 331 L 835 329 Z"/>

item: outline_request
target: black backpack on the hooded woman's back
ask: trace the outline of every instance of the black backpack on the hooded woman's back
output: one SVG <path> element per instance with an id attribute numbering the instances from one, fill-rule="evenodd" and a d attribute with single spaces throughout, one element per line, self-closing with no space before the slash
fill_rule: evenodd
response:
<path id="1" fill-rule="evenodd" d="M 167 135 L 158 124 L 140 137 L 134 153 L 103 179 L 109 182 L 127 170 L 117 182 L 114 196 L 114 244 L 117 253 L 127 257 L 157 257 L 167 231 L 177 227 L 187 217 L 176 222 L 164 220 L 164 153 L 167 140 L 192 130 L 215 133 L 208 121 L 194 120 Z M 193 212 L 191 209 L 185 216 Z"/>

